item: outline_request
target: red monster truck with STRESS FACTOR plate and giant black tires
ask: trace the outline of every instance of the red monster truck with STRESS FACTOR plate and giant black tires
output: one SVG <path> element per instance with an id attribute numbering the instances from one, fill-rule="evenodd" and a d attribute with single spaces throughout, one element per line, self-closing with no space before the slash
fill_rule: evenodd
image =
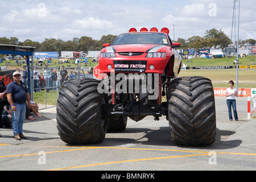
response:
<path id="1" fill-rule="evenodd" d="M 205 77 L 177 77 L 181 57 L 168 28 L 131 28 L 98 55 L 100 77 L 64 82 L 57 101 L 61 140 L 99 143 L 106 132 L 126 129 L 127 117 L 166 116 L 172 142 L 205 146 L 216 138 L 212 82 Z M 102 77 L 101 77 L 102 76 Z M 156 136 L 157 137 L 157 136 Z"/>

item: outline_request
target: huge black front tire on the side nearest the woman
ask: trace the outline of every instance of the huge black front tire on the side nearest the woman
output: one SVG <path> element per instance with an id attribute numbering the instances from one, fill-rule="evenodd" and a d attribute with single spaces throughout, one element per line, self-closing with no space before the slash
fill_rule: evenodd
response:
<path id="1" fill-rule="evenodd" d="M 216 110 L 212 82 L 204 77 L 171 81 L 168 118 L 172 141 L 185 146 L 205 146 L 216 138 Z"/>

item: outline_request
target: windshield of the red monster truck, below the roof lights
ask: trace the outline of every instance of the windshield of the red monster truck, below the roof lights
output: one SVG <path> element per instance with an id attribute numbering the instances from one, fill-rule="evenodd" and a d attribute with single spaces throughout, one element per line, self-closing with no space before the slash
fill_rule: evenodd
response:
<path id="1" fill-rule="evenodd" d="M 157 32 L 134 32 L 119 35 L 111 46 L 122 44 L 159 44 L 170 46 L 168 36 Z"/>

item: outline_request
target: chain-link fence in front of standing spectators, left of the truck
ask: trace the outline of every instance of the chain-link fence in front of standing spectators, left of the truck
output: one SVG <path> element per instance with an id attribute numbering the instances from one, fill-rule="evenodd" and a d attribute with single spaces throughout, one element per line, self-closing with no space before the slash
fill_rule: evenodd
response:
<path id="1" fill-rule="evenodd" d="M 40 72 L 39 80 L 37 81 L 34 78 L 34 68 L 37 67 Z M 1 71 L 20 71 L 23 73 L 23 66 L 5 66 L 0 67 Z M 61 73 L 67 73 L 63 78 L 61 77 Z M 65 71 L 64 71 L 65 70 Z M 52 75 L 52 72 L 55 74 Z M 56 76 L 55 76 L 56 75 Z M 48 65 L 46 67 L 37 65 L 33 68 L 30 67 L 30 93 L 31 93 L 31 101 L 34 101 L 39 104 L 39 109 L 47 109 L 51 107 L 55 107 L 57 105 L 57 98 L 59 96 L 59 91 L 61 89 L 61 85 L 64 81 L 69 79 L 76 78 L 93 78 L 93 67 L 61 67 L 61 66 L 53 66 Z M 61 79 L 63 78 L 63 79 Z M 36 82 L 39 83 L 36 84 Z M 38 92 L 39 91 L 39 92 Z"/>

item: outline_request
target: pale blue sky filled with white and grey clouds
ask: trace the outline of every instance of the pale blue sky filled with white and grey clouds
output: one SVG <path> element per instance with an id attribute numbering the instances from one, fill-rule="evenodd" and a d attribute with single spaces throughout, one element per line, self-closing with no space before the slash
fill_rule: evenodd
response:
<path id="1" fill-rule="evenodd" d="M 240 0 L 239 38 L 256 40 L 256 1 Z M 131 27 L 170 29 L 172 40 L 222 30 L 231 39 L 234 0 L 0 0 L 0 37 L 20 42 L 119 35 Z M 236 3 L 236 39 L 238 35 Z M 234 28 L 233 28 L 234 30 Z M 233 37 L 234 41 L 234 31 Z"/>

